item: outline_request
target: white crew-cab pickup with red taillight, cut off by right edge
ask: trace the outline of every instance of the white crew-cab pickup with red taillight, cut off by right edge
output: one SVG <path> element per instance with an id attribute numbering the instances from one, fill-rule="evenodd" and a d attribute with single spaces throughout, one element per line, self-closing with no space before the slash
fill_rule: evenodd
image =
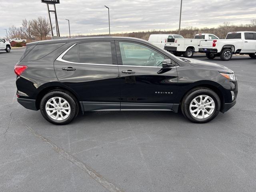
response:
<path id="1" fill-rule="evenodd" d="M 220 56 L 223 61 L 228 61 L 233 54 L 248 54 L 256 58 L 256 32 L 240 31 L 230 32 L 226 39 L 201 40 L 199 52 L 206 53 L 206 57 L 213 59 Z"/>

